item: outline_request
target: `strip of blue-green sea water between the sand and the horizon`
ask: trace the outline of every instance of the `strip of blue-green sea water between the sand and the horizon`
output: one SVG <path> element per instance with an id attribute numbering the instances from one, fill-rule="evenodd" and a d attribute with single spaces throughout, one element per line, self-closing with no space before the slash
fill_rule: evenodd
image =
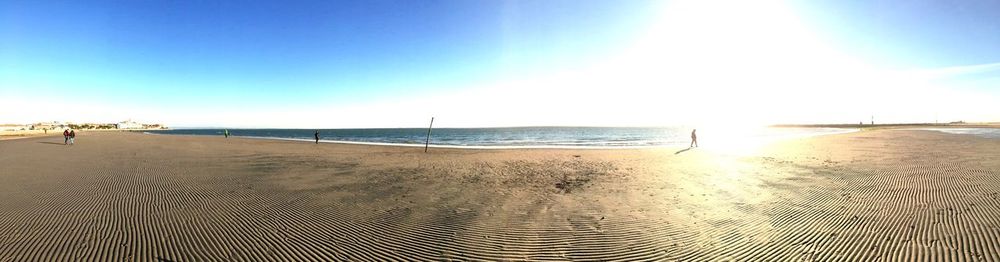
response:
<path id="1" fill-rule="evenodd" d="M 237 137 L 312 141 L 315 129 L 229 129 Z M 856 131 L 846 128 L 720 128 L 698 130 L 698 142 L 774 141 Z M 149 131 L 168 135 L 222 136 L 223 129 Z M 323 142 L 423 146 L 426 128 L 320 129 Z M 687 146 L 690 128 L 681 127 L 504 127 L 434 128 L 430 144 L 463 148 L 620 148 Z"/>

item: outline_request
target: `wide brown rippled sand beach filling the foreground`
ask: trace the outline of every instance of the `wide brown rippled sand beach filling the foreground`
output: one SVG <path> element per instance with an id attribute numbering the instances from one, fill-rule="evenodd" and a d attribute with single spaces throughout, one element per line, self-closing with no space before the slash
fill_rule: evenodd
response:
<path id="1" fill-rule="evenodd" d="M 874 130 L 751 156 L 421 151 L 0 141 L 0 261 L 1000 260 L 998 140 Z"/>

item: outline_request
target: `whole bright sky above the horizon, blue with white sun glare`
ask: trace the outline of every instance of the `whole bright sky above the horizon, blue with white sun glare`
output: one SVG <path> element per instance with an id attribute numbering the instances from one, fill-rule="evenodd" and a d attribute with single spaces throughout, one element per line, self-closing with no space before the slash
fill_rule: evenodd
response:
<path id="1" fill-rule="evenodd" d="M 0 123 L 1000 121 L 998 1 L 0 1 Z"/>

